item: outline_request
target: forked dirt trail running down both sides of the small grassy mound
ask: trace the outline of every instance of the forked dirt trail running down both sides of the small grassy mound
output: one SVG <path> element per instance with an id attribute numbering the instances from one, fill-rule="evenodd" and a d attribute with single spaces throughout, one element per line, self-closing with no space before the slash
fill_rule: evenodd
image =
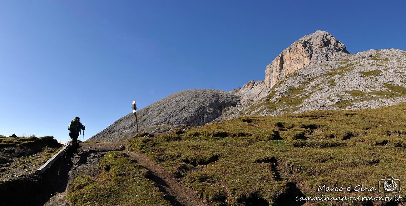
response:
<path id="1" fill-rule="evenodd" d="M 69 202 L 66 199 L 66 193 L 73 180 L 76 177 L 83 174 L 86 176 L 94 177 L 100 173 L 99 160 L 103 158 L 104 154 L 108 151 L 119 150 L 121 145 L 125 145 L 124 142 L 118 143 L 85 143 L 83 152 L 80 152 L 80 156 L 72 158 L 73 166 L 67 165 L 63 161 L 58 160 L 54 168 L 48 169 L 44 174 L 44 178 L 47 178 L 47 174 L 50 185 L 53 188 L 48 191 L 44 191 L 42 198 L 37 199 L 36 205 L 45 206 L 69 206 Z M 82 146 L 82 145 L 81 145 Z M 90 146 L 90 148 L 89 148 Z M 166 193 L 166 199 L 175 206 L 207 206 L 202 199 L 199 199 L 193 191 L 187 189 L 184 184 L 178 182 L 172 177 L 172 174 L 154 163 L 145 154 L 132 153 L 128 150 L 123 151 L 125 154 L 134 158 L 136 162 L 145 167 L 149 172 L 149 178 L 155 182 L 155 184 Z M 54 173 L 62 173 L 62 176 L 52 176 Z"/>

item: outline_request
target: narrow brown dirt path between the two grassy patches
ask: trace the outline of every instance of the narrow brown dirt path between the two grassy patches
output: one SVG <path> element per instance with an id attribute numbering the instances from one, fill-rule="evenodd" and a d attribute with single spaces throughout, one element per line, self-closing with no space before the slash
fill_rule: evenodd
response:
<path id="1" fill-rule="evenodd" d="M 206 206 L 207 203 L 199 199 L 195 193 L 187 189 L 184 184 L 173 178 L 171 172 L 154 163 L 147 155 L 125 151 L 125 154 L 134 158 L 138 164 L 150 171 L 150 179 L 168 194 L 168 200 L 177 206 Z"/>

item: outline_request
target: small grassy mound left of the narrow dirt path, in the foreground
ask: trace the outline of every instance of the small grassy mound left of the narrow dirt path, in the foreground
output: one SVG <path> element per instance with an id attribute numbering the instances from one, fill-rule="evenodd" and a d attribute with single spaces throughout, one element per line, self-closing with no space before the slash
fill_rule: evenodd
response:
<path id="1" fill-rule="evenodd" d="M 147 179 L 147 170 L 121 152 L 108 152 L 95 179 L 78 176 L 67 198 L 72 205 L 170 205 Z"/>

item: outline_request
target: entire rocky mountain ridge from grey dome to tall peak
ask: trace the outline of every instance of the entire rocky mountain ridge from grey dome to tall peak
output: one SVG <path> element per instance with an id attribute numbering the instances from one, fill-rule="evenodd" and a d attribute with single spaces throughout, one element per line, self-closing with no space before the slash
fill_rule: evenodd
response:
<path id="1" fill-rule="evenodd" d="M 329 33 L 317 30 L 283 50 L 266 67 L 265 80 L 251 80 L 229 92 L 205 89 L 180 91 L 187 97 L 182 99 L 185 101 L 182 104 L 168 102 L 169 97 L 177 93 L 171 94 L 151 104 L 173 105 L 171 108 L 149 105 L 139 111 L 140 130 L 164 132 L 180 126 L 201 126 L 244 115 L 390 106 L 406 101 L 406 85 L 401 82 L 406 80 L 404 62 L 406 52 L 396 49 L 349 54 L 343 43 Z M 394 81 L 394 78 L 398 81 Z M 210 94 L 207 95 L 207 92 Z M 220 96 L 217 109 L 205 109 L 209 108 L 207 102 Z M 196 112 L 200 107 L 203 107 L 201 112 Z M 148 115 L 149 119 L 144 119 L 143 113 L 147 108 L 155 111 L 151 113 L 153 115 Z M 186 119 L 191 118 L 190 121 L 183 121 L 177 115 L 183 110 L 190 112 L 185 116 Z M 163 121 L 157 115 L 159 112 L 167 114 Z M 192 120 L 201 119 L 206 112 L 210 118 L 205 121 Z M 130 113 L 90 140 L 117 141 L 135 134 L 135 117 Z"/>

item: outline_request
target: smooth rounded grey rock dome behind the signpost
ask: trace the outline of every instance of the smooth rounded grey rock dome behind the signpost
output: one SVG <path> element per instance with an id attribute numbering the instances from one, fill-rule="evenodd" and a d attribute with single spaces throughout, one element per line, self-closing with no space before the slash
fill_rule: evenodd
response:
<path id="1" fill-rule="evenodd" d="M 155 133 L 178 126 L 201 126 L 237 106 L 240 98 L 214 89 L 192 89 L 173 93 L 137 112 L 140 131 Z M 91 141 L 113 142 L 136 135 L 135 116 L 130 113 L 91 137 Z"/>

